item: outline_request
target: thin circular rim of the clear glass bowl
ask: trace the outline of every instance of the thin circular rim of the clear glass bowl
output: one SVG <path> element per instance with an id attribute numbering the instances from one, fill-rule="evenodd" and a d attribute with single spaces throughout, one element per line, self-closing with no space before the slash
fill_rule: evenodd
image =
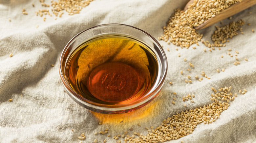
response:
<path id="1" fill-rule="evenodd" d="M 126 27 L 130 27 L 130 28 L 134 28 L 134 29 L 137 29 L 141 32 L 143 32 L 144 34 L 146 34 L 147 36 L 149 36 L 156 44 L 157 44 L 157 47 L 158 49 L 160 50 L 161 52 L 161 55 L 159 56 L 162 56 L 163 57 L 163 61 L 165 61 L 165 64 L 161 64 L 161 65 L 164 65 L 164 67 L 162 68 L 164 72 L 163 76 L 161 76 L 162 74 L 160 75 L 157 75 L 157 77 L 160 76 L 160 81 L 158 83 L 158 85 L 156 86 L 156 88 L 154 90 L 152 90 L 151 92 L 148 92 L 145 94 L 145 96 L 137 101 L 135 104 L 132 104 L 132 105 L 126 105 L 126 104 L 121 104 L 122 106 L 120 107 L 117 107 L 118 105 L 109 105 L 109 104 L 101 104 L 101 103 L 96 103 L 96 102 L 93 102 L 93 101 L 90 101 L 88 99 L 85 99 L 83 97 L 81 97 L 79 94 L 77 94 L 71 87 L 70 85 L 68 84 L 66 78 L 64 77 L 64 75 L 62 74 L 62 62 L 63 62 L 63 56 L 64 54 L 66 53 L 67 49 L 69 48 L 69 45 L 72 43 L 73 40 L 75 40 L 79 35 L 81 35 L 82 33 L 90 30 L 90 29 L 93 29 L 93 28 L 96 28 L 96 27 L 100 27 L 100 26 L 107 26 L 107 25 L 119 25 L 119 26 L 126 26 Z M 156 54 L 156 53 L 155 53 Z M 152 98 L 155 98 L 155 96 L 160 92 L 163 84 L 164 84 L 164 81 L 165 81 L 165 77 L 166 77 L 166 74 L 167 74 L 167 57 L 166 57 L 166 54 L 162 48 L 162 46 L 160 45 L 160 43 L 153 37 L 151 36 L 150 34 L 148 34 L 147 32 L 137 28 L 137 27 L 134 27 L 134 26 L 131 26 L 131 25 L 126 25 L 126 24 L 100 24 L 100 25 L 96 25 L 96 26 L 93 26 L 91 28 L 88 28 L 86 30 L 83 30 L 82 32 L 78 33 L 77 35 L 75 35 L 68 43 L 67 45 L 64 47 L 62 53 L 61 53 L 61 56 L 60 56 L 60 59 L 59 59 L 59 64 L 58 64 L 58 67 L 59 67 L 59 74 L 60 74 L 60 78 L 61 78 L 61 82 L 64 86 L 64 88 L 66 89 L 66 91 L 69 92 L 70 95 L 72 95 L 72 97 L 74 97 L 78 102 L 86 105 L 86 106 L 89 106 L 89 107 L 92 107 L 92 108 L 95 108 L 95 109 L 99 109 L 99 110 L 106 110 L 106 111 L 119 111 L 119 110 L 127 110 L 127 109 L 131 109 L 131 108 L 134 108 L 134 107 L 138 107 L 148 101 L 150 101 L 150 99 Z M 65 69 L 64 69 L 65 70 Z M 155 84 L 155 83 L 154 83 Z M 153 85 L 154 86 L 154 85 Z M 101 106 L 100 106 L 101 105 Z M 124 106 L 125 105 L 125 106 Z M 116 107 L 111 107 L 111 106 L 116 106 Z"/>

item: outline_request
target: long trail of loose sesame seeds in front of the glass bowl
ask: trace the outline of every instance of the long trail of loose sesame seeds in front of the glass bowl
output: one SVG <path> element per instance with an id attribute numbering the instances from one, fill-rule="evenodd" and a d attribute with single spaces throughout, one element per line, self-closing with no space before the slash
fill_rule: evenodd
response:
<path id="1" fill-rule="evenodd" d="M 158 142 L 166 142 L 174 139 L 179 139 L 185 135 L 192 134 L 195 130 L 196 126 L 200 123 L 209 124 L 214 121 L 216 121 L 221 113 L 224 110 L 227 110 L 230 101 L 234 100 L 235 97 L 237 97 L 237 94 L 233 94 L 231 92 L 231 86 L 230 87 L 222 87 L 218 90 L 214 87 L 210 87 L 211 90 L 214 92 L 211 94 L 211 101 L 212 103 L 208 105 L 204 105 L 203 107 L 198 107 L 191 110 L 185 110 L 181 113 L 176 112 L 176 115 L 173 115 L 167 119 L 164 119 L 162 123 L 154 129 L 153 126 L 145 127 L 147 130 L 147 134 L 143 135 L 143 133 L 139 132 L 131 132 L 133 129 L 130 129 L 130 132 L 125 131 L 122 135 L 115 135 L 113 136 L 113 139 L 116 140 L 116 143 L 121 143 L 121 140 L 125 143 L 158 143 Z M 239 90 L 241 94 L 245 94 L 247 92 L 246 89 Z M 173 92 L 174 95 L 177 95 L 176 92 Z M 186 97 L 182 97 L 183 101 L 186 101 L 190 99 L 192 101 L 192 97 L 194 98 L 194 94 L 188 94 Z M 184 103 L 184 106 L 186 104 Z M 99 122 L 101 125 L 102 122 Z M 138 126 L 141 126 L 138 124 Z M 107 134 L 109 131 L 106 129 L 105 131 L 95 132 L 94 135 L 97 134 Z M 132 135 L 128 135 L 128 134 Z M 81 134 L 82 135 L 82 134 Z M 79 136 L 79 139 L 82 136 Z M 107 135 L 107 137 L 110 137 L 110 135 Z M 104 139 L 104 143 L 107 141 L 107 139 Z M 94 140 L 94 142 L 98 142 L 97 139 Z M 181 140 L 181 142 L 184 142 Z M 80 142 L 82 143 L 82 142 Z"/>

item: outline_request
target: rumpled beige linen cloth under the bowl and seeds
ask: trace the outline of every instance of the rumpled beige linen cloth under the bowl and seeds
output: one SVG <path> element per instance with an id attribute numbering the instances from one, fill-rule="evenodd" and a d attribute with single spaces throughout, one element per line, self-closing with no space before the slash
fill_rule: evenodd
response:
<path id="1" fill-rule="evenodd" d="M 176 112 L 193 109 L 211 103 L 210 87 L 232 86 L 232 92 L 247 89 L 247 93 L 232 101 L 219 119 L 211 124 L 199 124 L 195 131 L 179 140 L 188 143 L 202 142 L 256 142 L 256 6 L 224 20 L 224 24 L 243 19 L 244 34 L 230 39 L 226 47 L 212 52 L 203 52 L 200 43 L 196 49 L 175 50 L 176 46 L 160 41 L 168 58 L 166 82 L 158 97 L 145 107 L 128 114 L 102 115 L 91 112 L 75 103 L 65 92 L 58 72 L 60 54 L 76 34 L 98 24 L 121 23 L 136 26 L 157 38 L 162 34 L 162 26 L 168 21 L 175 8 L 183 8 L 187 0 L 95 0 L 83 8 L 80 14 L 47 16 L 46 22 L 34 11 L 44 9 L 38 0 L 0 0 L 0 142 L 79 142 L 77 138 L 85 133 L 83 143 L 116 142 L 114 135 L 128 131 L 147 133 L 144 127 L 160 125 L 163 119 Z M 35 7 L 32 7 L 32 3 Z M 46 1 L 50 4 L 50 0 Z M 22 14 L 26 8 L 28 15 Z M 248 14 L 252 11 L 252 14 Z M 9 22 L 8 18 L 11 19 Z M 36 24 L 39 25 L 35 28 Z M 215 24 L 221 25 L 221 24 Z M 209 40 L 214 26 L 203 29 L 203 39 Z M 170 52 L 166 48 L 170 49 Z M 235 66 L 233 56 L 239 51 L 240 64 Z M 12 57 L 9 57 L 13 53 Z M 178 57 L 178 53 L 181 57 Z M 220 58 L 224 55 L 223 58 Z M 183 58 L 187 61 L 184 62 Z M 248 61 L 244 60 L 244 57 Z M 191 71 L 188 62 L 195 65 Z M 51 67 L 54 64 L 54 67 Z M 224 68 L 218 73 L 216 69 Z M 183 74 L 180 71 L 183 70 Z M 193 77 L 204 71 L 211 79 L 196 81 Z M 192 83 L 186 84 L 186 75 Z M 169 85 L 169 82 L 173 82 Z M 173 95 L 177 92 L 177 95 Z M 195 103 L 185 102 L 182 96 L 195 94 Z M 176 104 L 172 104 L 173 98 Z M 13 99 L 9 102 L 9 99 Z M 120 122 L 123 120 L 122 122 Z M 98 122 L 102 121 L 102 125 Z M 141 127 L 138 126 L 141 124 Z M 107 135 L 93 135 L 109 128 Z M 133 131 L 129 131 L 133 128 Z M 71 131 L 71 130 L 74 130 Z M 122 140 L 122 139 L 121 139 Z"/>

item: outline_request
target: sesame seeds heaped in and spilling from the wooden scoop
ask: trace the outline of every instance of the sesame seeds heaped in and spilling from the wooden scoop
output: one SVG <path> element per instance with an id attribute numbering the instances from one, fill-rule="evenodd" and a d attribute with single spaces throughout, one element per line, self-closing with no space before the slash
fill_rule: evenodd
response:
<path id="1" fill-rule="evenodd" d="M 195 0 L 187 10 L 175 9 L 167 25 L 163 27 L 164 35 L 158 40 L 188 48 L 192 44 L 198 44 L 203 34 L 198 33 L 194 27 L 199 26 L 211 17 L 215 17 L 222 10 L 241 2 L 242 0 Z M 217 35 L 218 36 L 218 35 Z M 217 40 L 217 38 L 215 38 Z M 220 47 L 221 44 L 207 44 Z"/>

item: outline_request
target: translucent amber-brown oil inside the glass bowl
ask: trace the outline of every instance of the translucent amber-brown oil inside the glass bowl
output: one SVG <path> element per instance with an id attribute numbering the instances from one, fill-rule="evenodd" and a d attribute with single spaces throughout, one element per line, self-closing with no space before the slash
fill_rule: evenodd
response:
<path id="1" fill-rule="evenodd" d="M 157 60 L 142 42 L 108 35 L 84 42 L 71 54 L 66 77 L 73 90 L 102 104 L 133 103 L 151 89 Z"/>

